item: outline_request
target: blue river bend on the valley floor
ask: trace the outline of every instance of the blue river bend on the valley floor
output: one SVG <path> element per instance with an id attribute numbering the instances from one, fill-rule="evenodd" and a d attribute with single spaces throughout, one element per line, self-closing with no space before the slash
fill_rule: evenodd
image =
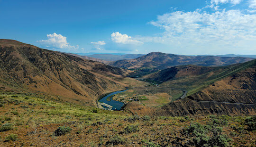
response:
<path id="1" fill-rule="evenodd" d="M 124 92 L 124 91 L 126 91 L 126 90 L 112 92 L 112 93 L 106 95 L 105 97 L 99 99 L 99 102 L 101 102 L 101 103 L 106 103 L 106 104 L 108 104 L 108 105 L 113 106 L 113 107 L 112 107 L 112 110 L 115 110 L 115 109 L 120 110 L 121 107 L 124 106 L 124 103 L 119 102 L 119 101 L 112 100 L 112 96 L 115 95 L 115 94 Z M 107 98 L 109 98 L 109 97 L 111 97 L 111 98 L 110 98 L 110 101 L 107 101 Z M 107 108 L 107 107 L 105 107 L 105 106 L 103 106 L 103 107 L 104 107 L 104 108 Z"/>

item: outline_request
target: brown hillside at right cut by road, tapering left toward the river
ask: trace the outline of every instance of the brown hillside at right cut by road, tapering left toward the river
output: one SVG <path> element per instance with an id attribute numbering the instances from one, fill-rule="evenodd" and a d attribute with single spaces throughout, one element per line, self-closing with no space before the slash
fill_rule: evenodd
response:
<path id="1" fill-rule="evenodd" d="M 248 64 L 254 62 L 248 62 Z M 187 98 L 162 107 L 146 107 L 133 102 L 128 103 L 123 109 L 128 109 L 134 114 L 147 115 L 255 115 L 256 65 L 254 63 L 252 67 L 216 81 Z"/>

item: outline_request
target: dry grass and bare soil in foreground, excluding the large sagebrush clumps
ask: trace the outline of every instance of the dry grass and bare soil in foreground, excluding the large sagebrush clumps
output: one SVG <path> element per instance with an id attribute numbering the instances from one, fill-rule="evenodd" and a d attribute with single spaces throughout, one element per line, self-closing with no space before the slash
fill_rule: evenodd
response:
<path id="1" fill-rule="evenodd" d="M 58 103 L 37 97 L 17 95 L 18 98 L 4 94 L 1 103 L 0 125 L 11 123 L 12 129 L 0 132 L 1 147 L 36 146 L 37 147 L 79 147 L 115 146 L 115 147 L 142 147 L 149 145 L 177 146 L 189 141 L 181 131 L 191 122 L 207 124 L 209 117 L 134 117 L 122 111 L 99 110 L 95 108 L 78 106 L 71 103 Z M 17 111 L 18 114 L 11 113 Z M 10 118 L 10 119 L 9 119 Z M 247 131 L 244 124 L 246 117 L 223 116 L 218 119 L 227 119 L 228 125 L 223 126 L 224 133 L 233 139 L 234 145 L 253 145 L 255 132 Z M 182 120 L 182 121 L 181 121 Z M 61 136 L 55 136 L 54 131 L 59 126 L 70 127 L 72 130 Z M 125 133 L 127 126 L 137 126 L 136 131 Z M 133 127 L 131 127 L 133 128 Z M 232 133 L 231 133 L 232 132 Z M 18 140 L 6 141 L 11 134 L 17 134 Z M 153 146 L 154 147 L 154 146 Z"/>

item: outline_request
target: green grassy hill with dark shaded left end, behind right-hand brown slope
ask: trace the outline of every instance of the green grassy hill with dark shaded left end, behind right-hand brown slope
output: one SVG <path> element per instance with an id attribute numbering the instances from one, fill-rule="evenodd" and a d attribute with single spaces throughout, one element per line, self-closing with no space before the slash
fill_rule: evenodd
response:
<path id="1" fill-rule="evenodd" d="M 183 65 L 152 73 L 144 78 L 163 81 L 162 85 L 187 90 L 189 96 L 216 81 L 255 65 L 256 60 L 219 67 Z"/>

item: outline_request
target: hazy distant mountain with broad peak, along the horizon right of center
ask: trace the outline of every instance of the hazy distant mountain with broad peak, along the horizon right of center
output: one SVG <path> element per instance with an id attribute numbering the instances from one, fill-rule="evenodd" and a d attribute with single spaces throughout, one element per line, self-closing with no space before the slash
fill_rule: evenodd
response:
<path id="1" fill-rule="evenodd" d="M 130 60 L 119 60 L 110 63 L 111 66 L 127 69 L 156 68 L 165 69 L 177 65 L 222 66 L 243 63 L 254 58 L 245 57 L 215 57 L 215 56 L 181 56 L 152 52 L 145 56 Z"/>

